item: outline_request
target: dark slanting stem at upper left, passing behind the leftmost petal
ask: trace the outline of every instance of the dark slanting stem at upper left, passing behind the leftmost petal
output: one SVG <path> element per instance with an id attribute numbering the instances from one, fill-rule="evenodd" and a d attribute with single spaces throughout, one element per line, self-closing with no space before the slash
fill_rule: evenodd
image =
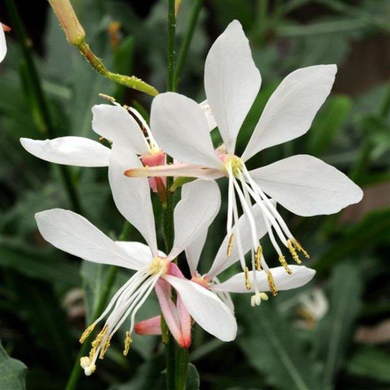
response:
<path id="1" fill-rule="evenodd" d="M 44 125 L 43 130 L 45 131 L 45 133 L 47 133 L 49 137 L 54 138 L 56 137 L 54 131 L 54 124 L 50 114 L 49 105 L 42 90 L 42 85 L 40 82 L 37 67 L 35 65 L 35 61 L 31 53 L 30 40 L 27 36 L 23 22 L 20 18 L 18 8 L 15 5 L 15 1 L 5 0 L 5 5 L 7 7 L 11 19 L 12 29 L 15 31 L 15 34 L 20 42 L 23 57 L 27 64 L 26 69 L 29 72 L 31 86 L 32 88 L 34 88 L 34 96 L 37 99 L 37 108 L 39 109 L 39 116 L 42 118 L 42 122 Z M 77 190 L 71 179 L 68 168 L 64 165 L 58 165 L 57 169 L 59 169 L 62 182 L 72 205 L 72 209 L 75 212 L 80 213 L 81 207 L 78 199 Z"/>

